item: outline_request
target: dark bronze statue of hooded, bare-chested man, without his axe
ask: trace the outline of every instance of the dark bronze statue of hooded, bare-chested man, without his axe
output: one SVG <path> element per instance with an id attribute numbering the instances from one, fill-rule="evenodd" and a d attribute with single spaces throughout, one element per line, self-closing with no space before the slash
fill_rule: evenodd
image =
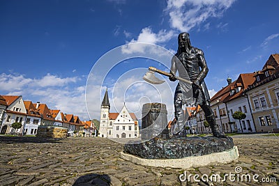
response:
<path id="1" fill-rule="evenodd" d="M 192 47 L 190 43 L 189 33 L 180 33 L 178 38 L 178 50 L 175 56 L 172 58 L 172 67 L 170 73 L 173 75 L 169 77 L 172 82 L 176 81 L 176 71 L 179 71 L 179 77 L 184 79 L 188 78 L 192 85 L 183 84 L 179 82 L 176 86 L 174 94 L 174 108 L 176 118 L 176 131 L 174 136 L 181 136 L 183 134 L 183 125 L 185 125 L 183 104 L 188 100 L 187 92 L 193 91 L 193 100 L 188 104 L 197 107 L 198 105 L 204 111 L 206 121 L 209 123 L 214 137 L 226 137 L 225 134 L 221 133 L 216 124 L 216 119 L 213 111 L 210 107 L 209 92 L 207 91 L 204 78 L 209 71 L 204 59 L 204 53 L 201 49 Z M 187 73 L 185 73 L 187 72 Z M 181 130 L 180 130 L 181 129 Z"/>

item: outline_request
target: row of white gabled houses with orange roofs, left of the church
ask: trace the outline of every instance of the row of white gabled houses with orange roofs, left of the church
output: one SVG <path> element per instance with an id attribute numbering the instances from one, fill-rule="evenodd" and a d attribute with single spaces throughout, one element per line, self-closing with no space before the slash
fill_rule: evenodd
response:
<path id="1" fill-rule="evenodd" d="M 0 114 L 0 134 L 36 135 L 39 125 L 67 127 L 70 137 L 83 134 L 91 137 L 97 133 L 92 121 L 49 109 L 47 104 L 24 101 L 21 95 L 0 95 Z M 14 129 L 13 123 L 22 123 L 22 127 Z"/>

